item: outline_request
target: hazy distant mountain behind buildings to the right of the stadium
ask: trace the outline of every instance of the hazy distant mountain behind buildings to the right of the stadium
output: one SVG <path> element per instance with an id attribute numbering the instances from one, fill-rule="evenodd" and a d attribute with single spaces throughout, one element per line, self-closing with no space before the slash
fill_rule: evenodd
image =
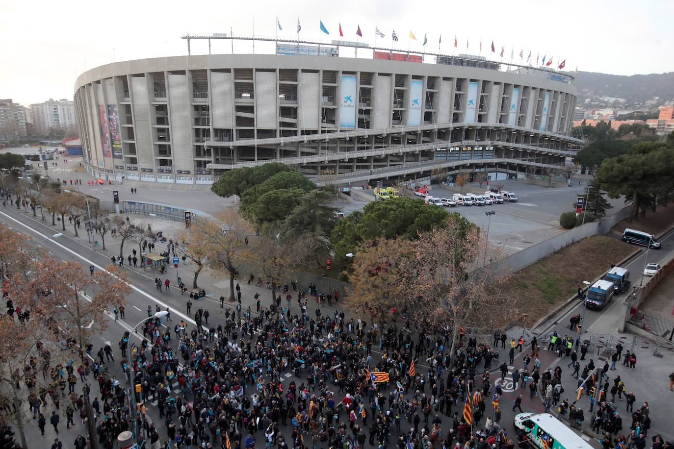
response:
<path id="1" fill-rule="evenodd" d="M 627 104 L 643 104 L 653 97 L 659 97 L 660 102 L 674 99 L 674 72 L 625 76 L 579 71 L 576 80 L 582 100 L 607 96 L 624 98 Z"/>

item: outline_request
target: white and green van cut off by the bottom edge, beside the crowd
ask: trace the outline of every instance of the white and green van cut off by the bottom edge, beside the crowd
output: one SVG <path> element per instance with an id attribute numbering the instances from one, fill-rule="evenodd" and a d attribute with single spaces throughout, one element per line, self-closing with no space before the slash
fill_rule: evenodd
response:
<path id="1" fill-rule="evenodd" d="M 540 449 L 592 449 L 588 442 L 550 413 L 519 413 L 514 425 L 524 431 L 528 442 Z"/>

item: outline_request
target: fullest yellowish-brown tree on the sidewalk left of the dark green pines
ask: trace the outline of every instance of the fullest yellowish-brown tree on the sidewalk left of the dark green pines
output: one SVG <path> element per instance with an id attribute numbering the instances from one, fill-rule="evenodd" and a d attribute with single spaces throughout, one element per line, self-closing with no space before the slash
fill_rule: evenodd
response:
<path id="1" fill-rule="evenodd" d="M 250 223 L 236 209 L 228 208 L 212 220 L 200 218 L 187 233 L 189 242 L 198 241 L 202 245 L 208 266 L 229 276 L 231 302 L 235 301 L 234 278 L 249 252 L 247 237 L 254 232 Z"/>

